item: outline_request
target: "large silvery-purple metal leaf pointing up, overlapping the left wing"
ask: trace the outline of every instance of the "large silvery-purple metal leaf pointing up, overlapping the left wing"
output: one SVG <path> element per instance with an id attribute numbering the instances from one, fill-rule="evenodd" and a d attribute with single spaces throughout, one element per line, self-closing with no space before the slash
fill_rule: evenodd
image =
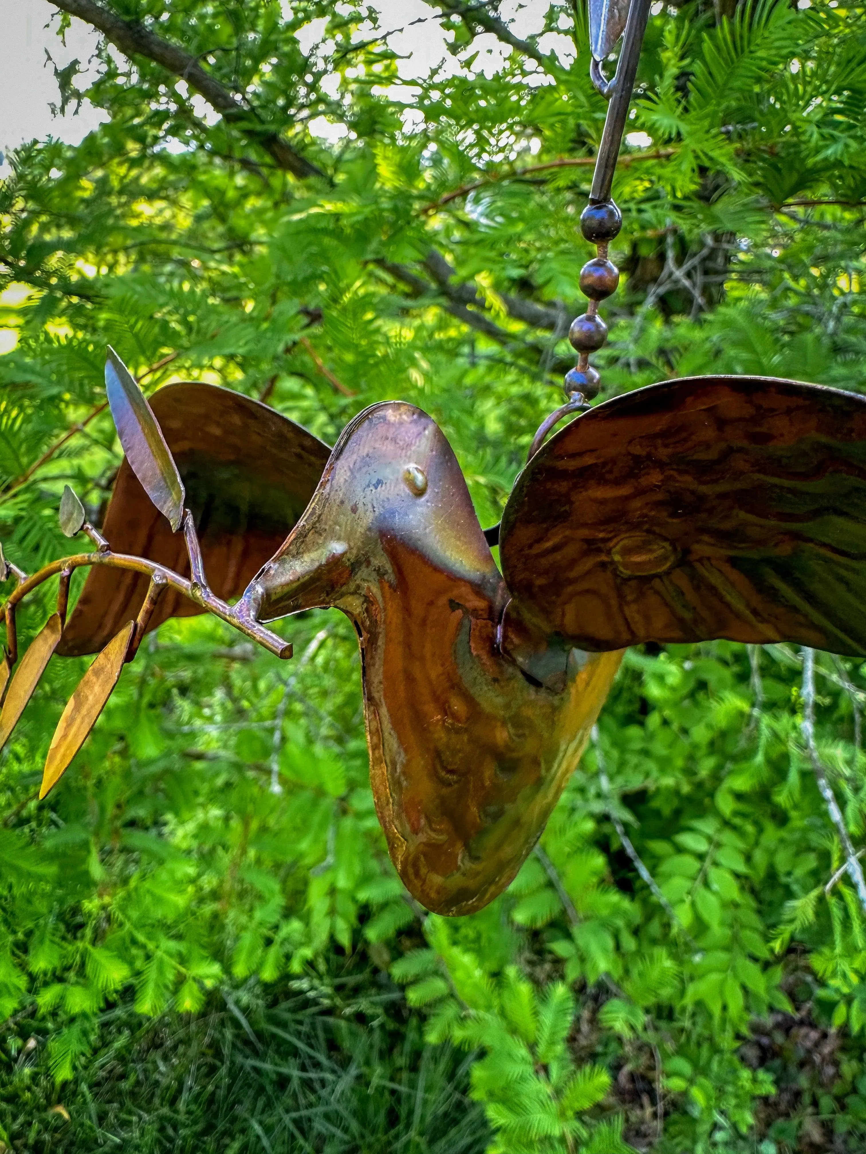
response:
<path id="1" fill-rule="evenodd" d="M 144 492 L 177 533 L 184 515 L 184 482 L 144 394 L 109 346 L 105 389 L 126 459 Z"/>

